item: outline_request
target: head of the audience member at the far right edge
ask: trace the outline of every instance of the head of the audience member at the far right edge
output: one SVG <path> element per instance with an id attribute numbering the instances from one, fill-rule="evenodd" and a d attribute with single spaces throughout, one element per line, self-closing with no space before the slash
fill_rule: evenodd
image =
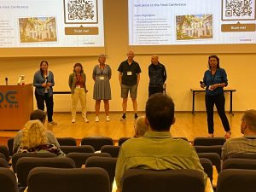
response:
<path id="1" fill-rule="evenodd" d="M 256 110 L 247 110 L 241 118 L 241 133 L 256 135 Z"/>

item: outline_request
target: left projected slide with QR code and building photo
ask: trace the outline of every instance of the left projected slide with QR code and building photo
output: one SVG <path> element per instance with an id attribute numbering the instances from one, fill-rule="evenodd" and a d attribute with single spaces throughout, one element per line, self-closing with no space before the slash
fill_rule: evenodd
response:
<path id="1" fill-rule="evenodd" d="M 0 0 L 0 48 L 104 47 L 103 0 Z"/>

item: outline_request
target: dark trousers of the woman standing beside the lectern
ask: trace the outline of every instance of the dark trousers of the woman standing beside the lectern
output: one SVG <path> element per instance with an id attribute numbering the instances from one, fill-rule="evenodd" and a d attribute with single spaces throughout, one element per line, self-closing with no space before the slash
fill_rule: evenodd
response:
<path id="1" fill-rule="evenodd" d="M 47 116 L 48 116 L 48 122 L 52 121 L 52 115 L 53 115 L 53 96 L 48 96 L 48 93 L 45 93 L 44 96 L 38 95 L 37 92 L 35 92 L 35 96 L 37 99 L 37 105 L 38 109 L 41 109 L 44 111 L 44 101 L 47 108 Z"/>

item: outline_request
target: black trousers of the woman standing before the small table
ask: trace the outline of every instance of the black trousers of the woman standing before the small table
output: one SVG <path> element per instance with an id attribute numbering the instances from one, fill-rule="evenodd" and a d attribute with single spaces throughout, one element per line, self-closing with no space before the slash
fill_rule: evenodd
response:
<path id="1" fill-rule="evenodd" d="M 207 108 L 207 125 L 208 133 L 213 133 L 213 106 L 216 106 L 218 115 L 221 119 L 222 125 L 225 131 L 230 131 L 230 123 L 225 113 L 225 97 L 224 93 L 218 94 L 217 96 L 206 95 L 206 108 Z"/>

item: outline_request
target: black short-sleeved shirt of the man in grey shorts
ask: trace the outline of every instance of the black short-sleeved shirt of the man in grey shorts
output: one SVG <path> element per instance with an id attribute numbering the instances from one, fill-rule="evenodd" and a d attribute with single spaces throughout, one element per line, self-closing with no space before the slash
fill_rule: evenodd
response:
<path id="1" fill-rule="evenodd" d="M 129 65 L 128 61 L 123 61 L 118 68 L 119 73 L 122 73 L 122 84 L 132 86 L 137 84 L 137 74 L 142 73 L 141 67 L 137 61 L 132 61 Z"/>

